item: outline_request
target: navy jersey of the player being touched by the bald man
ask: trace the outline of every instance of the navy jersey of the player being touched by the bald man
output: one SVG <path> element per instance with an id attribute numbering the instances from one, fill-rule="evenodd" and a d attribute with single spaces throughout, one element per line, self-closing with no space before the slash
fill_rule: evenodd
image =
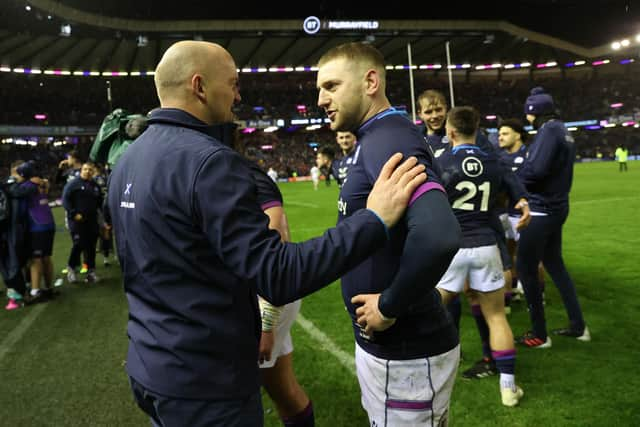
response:
<path id="1" fill-rule="evenodd" d="M 393 108 L 383 111 L 364 123 L 356 134 L 358 145 L 347 181 L 340 191 L 338 223 L 366 206 L 382 166 L 396 152 L 402 152 L 404 159 L 416 156 L 427 168 L 427 182 L 418 187 L 410 204 L 427 191 L 444 191 L 439 169 L 424 136 L 403 113 Z M 430 289 L 409 307 L 408 314 L 398 317 L 386 331 L 368 336 L 357 324 L 356 306 L 351 304 L 351 298 L 382 292 L 391 285 L 400 268 L 406 225 L 401 221 L 389 232 L 390 239 L 384 248 L 342 276 L 342 296 L 352 318 L 356 341 L 368 353 L 391 360 L 432 356 L 450 350 L 455 347 L 457 336 L 436 289 Z"/>

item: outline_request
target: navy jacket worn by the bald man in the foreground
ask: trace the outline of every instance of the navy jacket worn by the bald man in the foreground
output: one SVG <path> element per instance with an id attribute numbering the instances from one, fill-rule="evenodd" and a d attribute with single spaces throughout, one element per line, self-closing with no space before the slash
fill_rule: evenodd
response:
<path id="1" fill-rule="evenodd" d="M 151 391 L 229 399 L 257 392 L 256 291 L 275 305 L 336 280 L 386 242 L 361 210 L 324 236 L 282 243 L 247 163 L 190 114 L 159 109 L 109 182 L 129 303 L 127 371 Z"/>

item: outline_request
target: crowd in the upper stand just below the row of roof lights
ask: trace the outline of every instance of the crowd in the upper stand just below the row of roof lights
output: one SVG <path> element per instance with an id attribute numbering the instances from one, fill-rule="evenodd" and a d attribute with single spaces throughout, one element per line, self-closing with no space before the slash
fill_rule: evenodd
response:
<path id="1" fill-rule="evenodd" d="M 626 70 L 626 69 L 625 69 Z M 417 92 L 433 88 L 448 93 L 446 75 L 416 72 Z M 107 100 L 107 81 L 111 85 L 111 105 Z M 75 77 L 0 74 L 0 124 L 41 123 L 36 113 L 47 114 L 49 125 L 98 125 L 113 108 L 146 113 L 158 106 L 151 77 Z M 637 73 L 615 76 L 593 74 L 583 77 L 536 76 L 533 79 L 503 76 L 496 78 L 457 78 L 454 81 L 457 105 L 473 105 L 483 115 L 522 116 L 522 102 L 534 86 L 554 94 L 556 105 L 566 121 L 633 115 L 640 112 L 640 94 L 629 90 L 640 84 Z M 241 74 L 242 102 L 236 114 L 242 120 L 322 117 L 316 106 L 315 73 Z M 388 73 L 389 99 L 394 105 L 410 108 L 408 74 Z M 612 104 L 622 104 L 612 108 Z M 299 106 L 304 106 L 300 109 Z"/>

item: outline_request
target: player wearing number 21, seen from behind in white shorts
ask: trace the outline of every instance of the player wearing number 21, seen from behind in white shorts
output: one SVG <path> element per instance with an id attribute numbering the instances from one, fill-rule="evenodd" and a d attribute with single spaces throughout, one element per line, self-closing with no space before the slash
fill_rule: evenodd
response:
<path id="1" fill-rule="evenodd" d="M 446 304 L 469 281 L 489 327 L 491 355 L 500 372 L 502 404 L 515 406 L 524 392 L 515 383 L 516 352 L 504 310 L 502 263 L 491 226 L 497 195 L 504 191 L 503 170 L 495 153 L 486 153 L 475 144 L 479 120 L 471 107 L 456 107 L 447 115 L 446 132 L 452 149 L 446 150 L 438 163 L 462 228 L 462 247 L 438 283 L 438 290 Z M 525 196 L 524 192 L 512 194 L 519 209 L 528 210 Z"/>

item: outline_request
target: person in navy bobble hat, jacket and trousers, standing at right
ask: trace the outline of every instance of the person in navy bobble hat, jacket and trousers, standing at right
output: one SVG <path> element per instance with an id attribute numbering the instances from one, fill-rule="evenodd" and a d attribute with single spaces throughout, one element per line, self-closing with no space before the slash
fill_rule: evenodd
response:
<path id="1" fill-rule="evenodd" d="M 533 330 L 518 342 L 527 347 L 551 347 L 538 284 L 538 263 L 558 287 L 569 315 L 569 326 L 556 329 L 557 335 L 589 341 L 576 287 L 562 259 L 562 226 L 569 215 L 569 191 L 573 180 L 575 145 L 564 123 L 554 114 L 553 98 L 537 87 L 524 106 L 527 120 L 537 129 L 524 165 L 518 175 L 529 191 L 531 223 L 520 232 L 516 267 L 529 305 Z"/>

